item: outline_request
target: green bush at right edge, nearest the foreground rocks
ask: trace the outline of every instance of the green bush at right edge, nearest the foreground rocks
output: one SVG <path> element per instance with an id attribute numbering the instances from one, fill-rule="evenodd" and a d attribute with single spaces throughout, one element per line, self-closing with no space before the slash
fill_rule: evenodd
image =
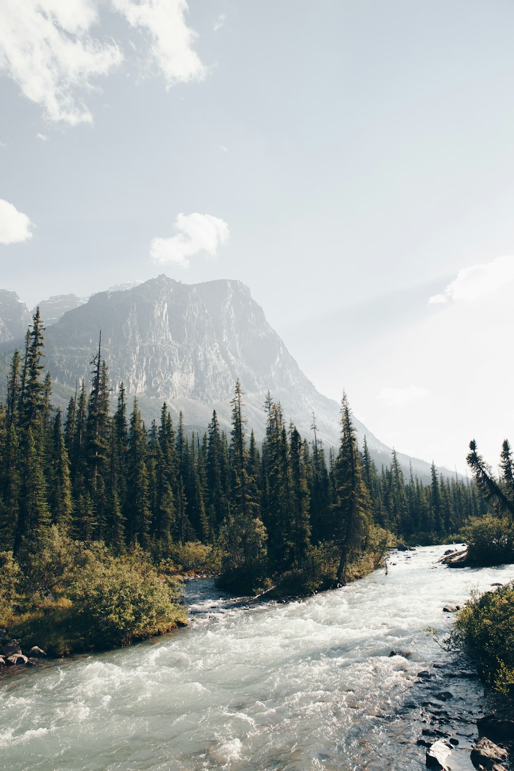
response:
<path id="1" fill-rule="evenodd" d="M 467 649 L 482 681 L 514 699 L 514 581 L 467 601 L 449 645 Z"/>

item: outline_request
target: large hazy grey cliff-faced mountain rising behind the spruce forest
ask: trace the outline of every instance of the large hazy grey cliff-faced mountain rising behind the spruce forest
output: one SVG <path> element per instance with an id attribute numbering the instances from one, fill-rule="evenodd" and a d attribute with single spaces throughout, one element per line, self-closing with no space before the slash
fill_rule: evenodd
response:
<path id="1" fill-rule="evenodd" d="M 55 379 L 75 389 L 77 377 L 89 378 L 100 331 L 113 384 L 123 380 L 148 418 L 166 400 L 189 425 L 204 429 L 216 409 L 228 427 L 240 378 L 257 439 L 264 436 L 269 389 L 303 436 L 312 437 L 314 413 L 318 438 L 338 446 L 338 403 L 317 392 L 240 281 L 182 284 L 160 275 L 125 291 L 92 295 L 46 330 L 46 363 Z M 375 460 L 388 463 L 391 449 L 354 422 L 360 442 L 366 435 Z M 399 457 L 408 466 L 408 456 Z M 412 466 L 428 473 L 424 461 L 412 460 Z"/>

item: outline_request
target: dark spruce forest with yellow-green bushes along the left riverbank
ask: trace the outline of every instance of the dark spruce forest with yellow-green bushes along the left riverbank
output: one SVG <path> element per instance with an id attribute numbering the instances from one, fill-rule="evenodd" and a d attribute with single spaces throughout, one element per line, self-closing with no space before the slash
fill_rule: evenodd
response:
<path id="1" fill-rule="evenodd" d="M 59 611 L 70 630 L 93 630 L 90 638 L 81 631 L 70 649 L 92 638 L 120 644 L 173 625 L 170 574 L 220 574 L 238 592 L 315 591 L 369 572 L 395 538 L 440 542 L 486 511 L 474 484 L 440 476 L 433 465 L 428 485 L 412 472 L 405 480 L 395 452 L 378 470 L 366 440 L 358 448 L 346 396 L 341 443 L 328 452 L 314 416 L 307 440 L 269 393 L 257 443 L 239 381 L 230 435 L 216 412 L 203 435 L 188 434 L 166 403 L 160 420 L 145 426 L 136 399 L 128 414 L 123 383 L 111 415 L 99 345 L 91 382 L 79 385 L 62 416 L 52 408 L 43 331 L 36 311 L 24 354 L 12 356 L 0 408 L 0 550 L 9 586 L 0 590 L 0 614 L 14 608 L 9 631 L 29 634 L 25 612 L 43 625 Z M 76 565 L 55 591 L 27 583 L 49 533 Z M 13 599 L 18 573 L 21 602 Z M 127 618 L 117 618 L 124 601 Z"/>

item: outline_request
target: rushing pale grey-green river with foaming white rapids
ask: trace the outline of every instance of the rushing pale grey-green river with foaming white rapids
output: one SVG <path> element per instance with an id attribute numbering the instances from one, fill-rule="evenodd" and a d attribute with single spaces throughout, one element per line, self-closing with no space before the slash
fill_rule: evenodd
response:
<path id="1" fill-rule="evenodd" d="M 433 713 L 462 748 L 482 700 L 474 679 L 449 677 L 425 629 L 448 628 L 444 604 L 514 577 L 514 565 L 436 565 L 444 550 L 395 554 L 388 575 L 290 604 L 234 608 L 210 599 L 222 594 L 212 582 L 190 584 L 189 628 L 2 679 L 0 768 L 425 768 L 415 742 Z M 418 682 L 434 662 L 436 678 Z M 428 705 L 442 690 L 455 698 Z M 472 767 L 465 749 L 452 764 Z"/>

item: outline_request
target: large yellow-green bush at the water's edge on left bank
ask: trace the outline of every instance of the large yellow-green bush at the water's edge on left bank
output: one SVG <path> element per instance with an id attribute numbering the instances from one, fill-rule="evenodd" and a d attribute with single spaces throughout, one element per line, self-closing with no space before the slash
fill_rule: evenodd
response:
<path id="1" fill-rule="evenodd" d="M 40 645 L 55 655 L 110 648 L 183 621 L 176 584 L 139 548 L 114 556 L 102 543 L 86 547 L 49 527 L 20 556 L 25 594 L 7 626 L 25 648 Z M 5 571 L 18 575 L 8 557 L 4 562 Z M 2 575 L 0 567 L 0 581 Z"/>

